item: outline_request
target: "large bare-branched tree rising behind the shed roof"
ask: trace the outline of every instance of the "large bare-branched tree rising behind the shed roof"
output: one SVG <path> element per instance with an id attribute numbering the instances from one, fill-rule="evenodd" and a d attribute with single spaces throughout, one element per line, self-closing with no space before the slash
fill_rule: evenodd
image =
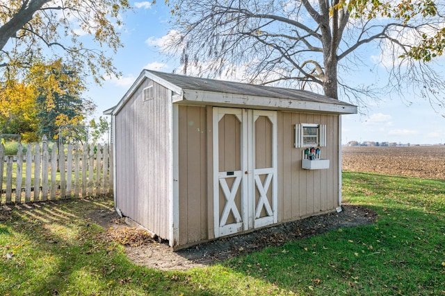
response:
<path id="1" fill-rule="evenodd" d="M 388 8 L 383 2 L 366 6 L 367 1 L 361 7 L 354 2 L 357 8 L 351 8 L 349 4 L 341 6 L 339 0 L 170 0 L 177 18 L 172 28 L 180 38 L 164 49 L 172 55 L 181 53 L 184 71 L 217 76 L 242 69 L 242 77 L 248 82 L 318 90 L 322 87 L 327 96 L 338 98 L 340 93 L 362 105 L 366 97 L 375 99 L 384 92 L 374 92 L 372 83 L 369 87 L 348 85 L 339 75 L 353 71 L 357 64 L 373 63 L 369 56 L 363 60 L 361 50 L 380 46 L 382 57 L 394 61 L 388 71 L 391 83 L 387 89 L 403 89 L 408 83 L 422 89 L 419 95 L 431 98 L 430 103 L 437 103 L 433 98 L 444 101 L 445 79 L 439 76 L 432 80 L 439 73 L 412 64 L 408 54 L 413 53 L 417 40 L 441 30 L 445 6 L 438 1 L 417 2 L 425 6 L 403 10 L 398 6 Z M 424 12 L 425 7 L 428 12 Z M 429 50 L 436 49 L 439 37 L 427 40 L 432 44 Z M 380 67 L 385 62 L 382 58 Z M 439 91 L 431 87 L 425 90 L 421 78 L 438 83 Z"/>

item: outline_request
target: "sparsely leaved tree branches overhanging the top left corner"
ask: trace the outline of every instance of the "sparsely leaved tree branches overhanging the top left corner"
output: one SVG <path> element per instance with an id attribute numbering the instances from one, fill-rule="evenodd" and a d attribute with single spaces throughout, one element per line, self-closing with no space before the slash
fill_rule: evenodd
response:
<path id="1" fill-rule="evenodd" d="M 90 40 L 115 52 L 122 46 L 115 25 L 122 24 L 120 13 L 127 9 L 127 0 L 5 2 L 0 9 L 0 64 L 20 67 L 46 58 L 45 46 L 58 47 L 53 51 L 54 59 L 69 57 L 79 71 L 92 75 L 98 83 L 104 75 L 118 76 L 106 50 L 86 49 L 74 31 L 83 30 Z"/>

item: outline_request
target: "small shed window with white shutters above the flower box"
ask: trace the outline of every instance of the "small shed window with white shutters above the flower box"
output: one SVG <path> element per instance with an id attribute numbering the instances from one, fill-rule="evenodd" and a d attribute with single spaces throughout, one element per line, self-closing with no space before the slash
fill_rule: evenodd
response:
<path id="1" fill-rule="evenodd" d="M 326 125 L 300 123 L 295 125 L 295 147 L 326 146 Z"/>

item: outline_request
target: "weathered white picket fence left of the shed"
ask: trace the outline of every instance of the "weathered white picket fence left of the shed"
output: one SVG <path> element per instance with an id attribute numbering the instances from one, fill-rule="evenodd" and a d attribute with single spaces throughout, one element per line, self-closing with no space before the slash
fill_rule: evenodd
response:
<path id="1" fill-rule="evenodd" d="M 19 144 L 4 155 L 0 144 L 0 204 L 82 198 L 113 192 L 113 153 L 108 145 Z"/>

